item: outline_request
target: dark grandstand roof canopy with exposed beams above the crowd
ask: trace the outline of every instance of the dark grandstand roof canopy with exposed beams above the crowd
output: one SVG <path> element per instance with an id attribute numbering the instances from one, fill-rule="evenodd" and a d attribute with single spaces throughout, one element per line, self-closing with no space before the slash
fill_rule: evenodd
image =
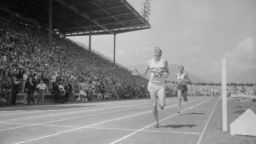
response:
<path id="1" fill-rule="evenodd" d="M 49 27 L 49 0 L 1 0 L 12 12 Z M 52 29 L 66 36 L 118 34 L 151 28 L 126 0 L 52 0 Z"/>

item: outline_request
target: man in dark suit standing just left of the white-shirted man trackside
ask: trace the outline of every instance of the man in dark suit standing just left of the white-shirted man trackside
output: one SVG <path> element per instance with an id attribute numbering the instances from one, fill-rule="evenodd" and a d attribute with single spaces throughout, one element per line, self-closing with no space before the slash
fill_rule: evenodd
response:
<path id="1" fill-rule="evenodd" d="M 25 93 L 27 93 L 27 102 L 30 105 L 31 100 L 33 104 L 35 104 L 35 100 L 33 98 L 34 92 L 36 91 L 36 82 L 32 81 L 32 77 L 29 77 L 29 80 L 25 82 Z"/>

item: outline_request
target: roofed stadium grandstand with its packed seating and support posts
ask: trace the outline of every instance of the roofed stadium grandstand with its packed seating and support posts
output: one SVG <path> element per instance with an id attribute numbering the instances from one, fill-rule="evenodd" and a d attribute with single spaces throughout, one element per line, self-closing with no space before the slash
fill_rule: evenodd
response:
<path id="1" fill-rule="evenodd" d="M 103 87 L 111 95 L 135 96 L 137 88 L 144 90 L 148 80 L 132 76 L 128 68 L 115 64 L 115 57 L 113 61 L 99 52 L 91 53 L 90 44 L 87 47 L 66 38 L 115 36 L 150 28 L 148 21 L 125 0 L 0 3 L 2 84 L 8 77 L 11 81 L 17 77 L 19 92 L 24 92 L 25 81 L 33 77 L 38 83 L 42 80 L 49 93 L 54 93 L 56 81 L 70 82 L 72 94 L 88 88 L 97 94 Z M 23 93 L 19 95 L 22 97 Z"/>

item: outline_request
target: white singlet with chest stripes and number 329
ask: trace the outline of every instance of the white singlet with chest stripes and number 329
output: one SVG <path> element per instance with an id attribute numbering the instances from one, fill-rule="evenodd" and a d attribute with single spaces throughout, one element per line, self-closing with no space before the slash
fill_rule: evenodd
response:
<path id="1" fill-rule="evenodd" d="M 165 72 L 165 66 L 162 58 L 158 64 L 156 64 L 154 62 L 154 59 L 152 58 L 149 69 L 150 69 L 150 82 L 165 84 L 165 80 L 164 80 L 165 76 L 162 75 Z"/>

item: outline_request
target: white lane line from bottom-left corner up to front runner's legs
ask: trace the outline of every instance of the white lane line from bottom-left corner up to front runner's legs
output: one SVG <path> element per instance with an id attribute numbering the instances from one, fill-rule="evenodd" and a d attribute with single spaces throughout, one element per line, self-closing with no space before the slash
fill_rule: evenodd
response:
<path id="1" fill-rule="evenodd" d="M 205 99 L 205 98 L 200 98 L 200 99 Z M 196 100 L 200 100 L 200 99 L 196 99 Z M 192 101 L 189 101 L 189 102 L 193 102 L 193 101 L 196 101 L 196 100 L 192 100 Z M 187 103 L 189 103 L 189 102 L 187 102 Z M 177 105 L 177 104 L 176 104 L 176 105 Z M 175 106 L 175 105 L 172 105 L 172 106 Z M 196 106 L 196 105 L 195 105 L 195 106 Z M 171 107 L 171 106 L 168 106 L 168 107 Z M 166 108 L 168 108 L 168 107 L 166 107 Z M 183 111 L 184 111 L 184 110 L 183 110 Z M 135 115 L 140 115 L 140 114 L 144 114 L 144 113 L 148 113 L 148 112 L 152 112 L 152 110 L 146 111 L 146 112 L 143 112 L 143 113 L 139 113 L 139 114 L 135 114 Z M 25 142 L 29 142 L 29 141 L 39 140 L 39 139 L 42 139 L 42 138 L 51 137 L 51 136 L 55 136 L 55 135 L 59 135 L 59 134 L 63 134 L 63 133 L 67 133 L 67 132 L 71 132 L 71 131 L 75 131 L 75 130 L 79 130 L 79 129 L 82 129 L 82 128 L 86 128 L 86 127 L 90 127 L 90 126 L 102 124 L 102 123 L 109 122 L 109 121 L 114 121 L 114 120 L 119 120 L 119 119 L 127 118 L 127 117 L 130 117 L 130 116 L 135 116 L 135 115 L 129 115 L 129 116 L 125 116 L 125 117 L 118 118 L 118 119 L 108 120 L 108 121 L 100 122 L 100 123 L 97 123 L 97 124 L 93 124 L 93 125 L 89 125 L 89 126 L 85 126 L 85 127 L 80 127 L 80 128 L 77 128 L 77 129 L 73 129 L 73 130 L 69 130 L 69 131 L 64 131 L 64 132 L 60 132 L 60 133 L 53 134 L 53 135 L 48 135 L 48 136 L 44 136 L 44 137 L 34 138 L 34 139 L 31 139 L 31 140 L 22 141 L 22 142 L 18 142 L 18 143 L 25 143 Z M 47 122 L 44 122 L 44 123 L 47 123 Z M 36 125 L 36 124 L 35 124 L 35 125 Z M 152 125 L 153 125 L 153 124 L 152 124 Z M 140 131 L 141 131 L 141 130 L 140 130 Z M 18 144 L 18 143 L 15 143 L 15 144 Z"/>

